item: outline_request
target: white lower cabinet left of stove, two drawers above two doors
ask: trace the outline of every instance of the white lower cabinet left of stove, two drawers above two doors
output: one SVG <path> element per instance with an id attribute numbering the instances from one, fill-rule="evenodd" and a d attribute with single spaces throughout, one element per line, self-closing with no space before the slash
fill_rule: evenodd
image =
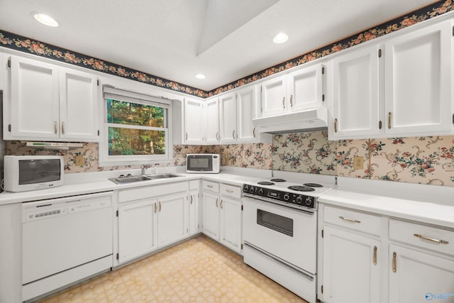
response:
<path id="1" fill-rule="evenodd" d="M 217 182 L 202 182 L 202 232 L 241 253 L 241 188 Z"/>

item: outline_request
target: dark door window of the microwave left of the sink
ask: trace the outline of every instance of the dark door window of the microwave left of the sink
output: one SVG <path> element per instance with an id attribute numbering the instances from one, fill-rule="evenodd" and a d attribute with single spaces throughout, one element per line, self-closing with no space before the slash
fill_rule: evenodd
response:
<path id="1" fill-rule="evenodd" d="M 58 181 L 60 172 L 60 159 L 20 160 L 19 184 Z"/>

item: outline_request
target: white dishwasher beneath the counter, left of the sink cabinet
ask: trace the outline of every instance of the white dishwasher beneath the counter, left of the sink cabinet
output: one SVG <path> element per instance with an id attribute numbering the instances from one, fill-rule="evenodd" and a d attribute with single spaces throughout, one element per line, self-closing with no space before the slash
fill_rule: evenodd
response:
<path id="1" fill-rule="evenodd" d="M 112 192 L 23 203 L 22 226 L 24 301 L 112 267 Z"/>

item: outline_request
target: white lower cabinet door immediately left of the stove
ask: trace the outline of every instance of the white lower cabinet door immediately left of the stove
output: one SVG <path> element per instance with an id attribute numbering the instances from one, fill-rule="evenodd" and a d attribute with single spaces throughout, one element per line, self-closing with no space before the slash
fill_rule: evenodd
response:
<path id="1" fill-rule="evenodd" d="M 241 251 L 241 202 L 234 199 L 221 199 L 221 243 Z"/>

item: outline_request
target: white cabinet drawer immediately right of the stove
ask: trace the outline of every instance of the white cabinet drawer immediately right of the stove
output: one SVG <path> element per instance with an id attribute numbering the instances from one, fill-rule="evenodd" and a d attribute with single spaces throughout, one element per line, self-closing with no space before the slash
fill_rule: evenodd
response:
<path id="1" fill-rule="evenodd" d="M 380 216 L 324 206 L 323 221 L 380 236 Z"/>

